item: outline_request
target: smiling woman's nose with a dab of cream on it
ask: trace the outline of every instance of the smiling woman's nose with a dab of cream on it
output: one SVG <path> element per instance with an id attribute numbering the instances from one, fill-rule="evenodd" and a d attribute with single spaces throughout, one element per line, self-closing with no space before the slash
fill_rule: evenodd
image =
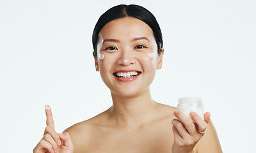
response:
<path id="1" fill-rule="evenodd" d="M 136 62 L 136 59 L 134 57 L 132 50 L 126 48 L 120 50 L 120 55 L 116 62 L 117 64 L 121 64 L 123 66 L 129 66 L 130 64 L 134 64 Z"/>

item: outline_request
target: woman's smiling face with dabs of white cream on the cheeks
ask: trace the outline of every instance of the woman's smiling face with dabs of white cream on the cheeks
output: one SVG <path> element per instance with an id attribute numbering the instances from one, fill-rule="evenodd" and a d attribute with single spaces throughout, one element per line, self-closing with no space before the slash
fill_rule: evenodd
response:
<path id="1" fill-rule="evenodd" d="M 104 59 L 99 59 L 100 54 Z M 125 97 L 147 91 L 163 61 L 163 54 L 157 54 L 152 29 L 133 17 L 104 25 L 99 33 L 97 57 L 95 66 L 103 82 L 113 94 Z"/>

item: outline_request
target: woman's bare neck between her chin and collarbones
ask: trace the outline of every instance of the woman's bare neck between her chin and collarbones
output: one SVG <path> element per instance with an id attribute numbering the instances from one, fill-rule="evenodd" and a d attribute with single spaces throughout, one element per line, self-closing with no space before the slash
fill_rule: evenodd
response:
<path id="1" fill-rule="evenodd" d="M 111 92 L 113 106 L 109 109 L 116 124 L 135 127 L 148 122 L 154 115 L 156 102 L 150 95 L 150 89 L 140 96 L 120 97 Z"/>

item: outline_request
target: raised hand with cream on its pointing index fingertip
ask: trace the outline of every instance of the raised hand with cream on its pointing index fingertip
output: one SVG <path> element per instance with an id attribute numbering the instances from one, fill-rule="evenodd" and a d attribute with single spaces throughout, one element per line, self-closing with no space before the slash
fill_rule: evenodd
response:
<path id="1" fill-rule="evenodd" d="M 73 153 L 74 145 L 67 132 L 56 133 L 49 105 L 45 105 L 46 128 L 44 137 L 36 145 L 34 153 Z M 63 143 L 61 143 L 63 141 Z"/>

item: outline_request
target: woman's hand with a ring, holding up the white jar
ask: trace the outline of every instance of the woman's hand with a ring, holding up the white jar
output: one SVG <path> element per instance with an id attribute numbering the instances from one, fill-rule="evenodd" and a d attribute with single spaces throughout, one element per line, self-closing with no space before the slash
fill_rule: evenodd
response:
<path id="1" fill-rule="evenodd" d="M 175 111 L 177 119 L 172 120 L 172 130 L 174 142 L 172 146 L 173 153 L 192 153 L 196 143 L 204 136 L 211 113 L 204 114 L 204 120 L 195 112 L 190 112 L 191 118 L 195 120 L 196 126 L 184 113 Z M 200 132 L 199 132 L 200 131 Z"/>

